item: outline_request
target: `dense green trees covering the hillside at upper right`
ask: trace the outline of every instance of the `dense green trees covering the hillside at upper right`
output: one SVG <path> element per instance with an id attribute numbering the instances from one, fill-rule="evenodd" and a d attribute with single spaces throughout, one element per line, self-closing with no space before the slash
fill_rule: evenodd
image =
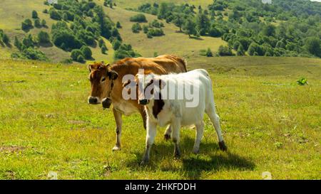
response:
<path id="1" fill-rule="evenodd" d="M 321 4 L 317 2 L 278 0 L 270 5 L 260 0 L 215 0 L 208 10 L 199 9 L 198 14 L 188 4 L 163 2 L 143 4 L 138 11 L 174 23 L 189 36 L 222 37 L 235 51 L 235 42 L 244 50 L 256 43 L 249 50 L 251 55 L 320 56 L 315 51 L 321 41 Z M 228 21 L 223 20 L 223 15 L 228 16 Z M 147 29 L 144 32 L 148 33 Z M 316 39 L 307 41 L 308 37 Z M 151 33 L 148 38 L 152 38 Z"/>

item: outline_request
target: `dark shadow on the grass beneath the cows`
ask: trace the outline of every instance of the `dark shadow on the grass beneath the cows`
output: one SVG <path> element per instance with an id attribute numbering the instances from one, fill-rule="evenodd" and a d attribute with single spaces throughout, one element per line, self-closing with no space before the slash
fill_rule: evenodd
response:
<path id="1" fill-rule="evenodd" d="M 194 139 L 185 137 L 180 141 L 182 151 L 181 165 L 173 165 L 173 144 L 171 142 L 157 142 L 151 150 L 151 161 L 146 166 L 139 163 L 143 152 L 134 153 L 137 158 L 127 162 L 129 168 L 136 171 L 173 171 L 182 174 L 188 179 L 198 179 L 203 172 L 217 171 L 248 171 L 253 170 L 255 164 L 249 158 L 238 156 L 235 153 L 219 150 L 217 142 L 203 142 L 200 144 L 200 154 L 192 152 Z"/>

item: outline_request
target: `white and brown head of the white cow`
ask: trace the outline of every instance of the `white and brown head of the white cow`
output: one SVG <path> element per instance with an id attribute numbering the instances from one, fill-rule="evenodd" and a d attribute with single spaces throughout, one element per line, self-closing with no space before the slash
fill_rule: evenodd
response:
<path id="1" fill-rule="evenodd" d="M 136 75 L 135 82 L 138 91 L 138 104 L 147 105 L 154 99 L 161 99 L 161 90 L 165 87 L 161 76 L 145 72 L 145 75 Z"/>

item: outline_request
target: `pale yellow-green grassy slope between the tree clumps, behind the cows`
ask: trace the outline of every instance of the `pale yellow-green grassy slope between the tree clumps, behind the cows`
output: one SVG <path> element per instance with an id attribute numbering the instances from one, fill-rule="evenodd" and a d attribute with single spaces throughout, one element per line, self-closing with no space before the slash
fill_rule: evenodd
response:
<path id="1" fill-rule="evenodd" d="M 221 38 L 212 38 L 201 36 L 199 39 L 188 38 L 184 33 L 178 33 L 179 28 L 173 24 L 165 23 L 163 21 L 165 28 L 163 31 L 165 36 L 146 38 L 146 34 L 133 33 L 131 31 L 131 26 L 133 22 L 130 21 L 131 16 L 137 14 L 135 11 L 127 11 L 121 8 L 109 9 L 106 8 L 108 13 L 114 21 L 120 21 L 123 28 L 120 29 L 121 36 L 126 43 L 133 45 L 138 53 L 145 57 L 153 57 L 154 53 L 158 55 L 171 53 L 175 55 L 188 56 L 188 55 L 199 55 L 201 49 L 210 48 L 213 51 L 218 50 L 220 45 L 226 45 L 225 41 Z M 145 14 L 149 21 L 156 19 L 156 16 L 150 14 Z"/>

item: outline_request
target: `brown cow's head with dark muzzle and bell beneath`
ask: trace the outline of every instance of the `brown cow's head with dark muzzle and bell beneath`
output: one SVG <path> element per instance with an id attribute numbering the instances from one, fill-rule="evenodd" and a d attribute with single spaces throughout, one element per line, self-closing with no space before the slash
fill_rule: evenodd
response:
<path id="1" fill-rule="evenodd" d="M 118 73 L 103 62 L 88 65 L 88 70 L 90 72 L 88 79 L 91 81 L 91 96 L 88 97 L 88 104 L 103 102 L 107 103 L 107 108 L 110 107 L 111 90 L 113 90 L 113 82 L 117 79 Z"/>

